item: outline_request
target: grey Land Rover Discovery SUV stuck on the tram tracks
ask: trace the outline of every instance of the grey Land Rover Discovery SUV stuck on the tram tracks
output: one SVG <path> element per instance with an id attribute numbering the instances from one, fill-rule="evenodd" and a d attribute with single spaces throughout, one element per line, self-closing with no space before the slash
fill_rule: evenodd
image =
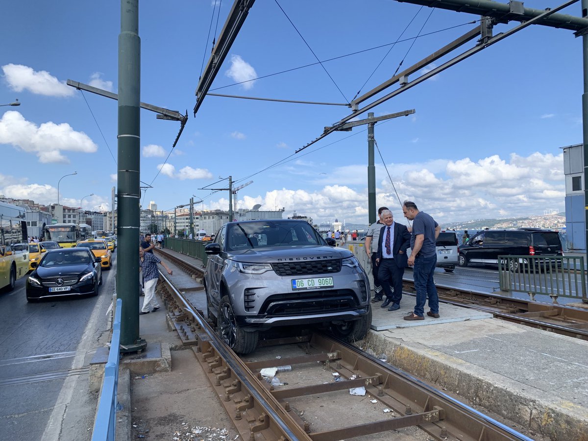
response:
<path id="1" fill-rule="evenodd" d="M 353 253 L 308 222 L 229 222 L 206 246 L 209 319 L 237 353 L 255 350 L 274 326 L 322 324 L 347 341 L 372 323 L 368 276 Z"/>

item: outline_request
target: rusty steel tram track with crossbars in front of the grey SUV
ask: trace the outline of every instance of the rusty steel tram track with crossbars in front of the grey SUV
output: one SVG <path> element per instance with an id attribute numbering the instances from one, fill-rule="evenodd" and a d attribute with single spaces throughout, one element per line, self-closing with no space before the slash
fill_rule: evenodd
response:
<path id="1" fill-rule="evenodd" d="M 268 437 L 265 433 L 265 439 L 336 441 L 343 437 L 418 426 L 437 440 L 529 440 L 516 430 L 477 412 L 422 380 L 369 356 L 355 346 L 320 333 L 313 333 L 310 338 L 286 339 L 287 341 L 276 339 L 274 342 L 266 343 L 283 345 L 285 342 L 308 342 L 306 355 L 284 359 L 281 362 L 288 362 L 291 365 L 310 361 L 331 363 L 326 364 L 326 367 L 333 369 L 333 366 L 336 366 L 334 370 L 345 380 L 273 390 L 273 386 L 263 382 L 260 373 L 256 377 L 252 369 L 272 365 L 275 360 L 242 362 L 182 293 L 172 285 L 171 280 L 160 274 L 166 289 L 171 293 L 165 296 L 165 303 L 172 309 L 172 320 L 178 323 L 185 320 L 188 315 L 195 320 L 196 326 L 187 324 L 194 335 L 191 344 L 196 345 L 193 348 L 196 358 L 202 363 L 205 371 L 208 371 L 206 375 L 221 397 L 228 415 L 233 412 L 233 422 L 244 439 L 248 435 L 249 439 L 255 439 L 256 432 L 273 429 L 273 435 Z M 178 307 L 181 309 L 179 313 Z M 182 332 L 182 340 L 185 341 L 186 330 Z M 288 398 L 347 390 L 349 387 L 360 385 L 365 386 L 370 395 L 400 416 L 310 433 L 308 422 L 304 422 L 297 413 L 290 412 L 289 403 L 285 401 Z M 335 412 L 339 410 L 337 408 Z M 278 429 L 281 435 L 275 432 Z"/>

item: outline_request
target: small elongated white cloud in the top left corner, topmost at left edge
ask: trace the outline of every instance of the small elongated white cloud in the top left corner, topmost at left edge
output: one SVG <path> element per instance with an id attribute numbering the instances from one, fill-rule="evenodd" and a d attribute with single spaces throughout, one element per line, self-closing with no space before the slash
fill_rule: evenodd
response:
<path id="1" fill-rule="evenodd" d="M 45 96 L 72 96 L 75 89 L 59 81 L 47 71 L 34 71 L 22 64 L 6 64 L 2 66 L 4 77 L 9 88 L 16 92 L 27 90 Z"/>

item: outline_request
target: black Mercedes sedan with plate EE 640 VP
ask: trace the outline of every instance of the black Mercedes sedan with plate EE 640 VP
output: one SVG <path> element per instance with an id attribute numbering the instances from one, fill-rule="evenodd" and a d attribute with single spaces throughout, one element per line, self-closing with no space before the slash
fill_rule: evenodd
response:
<path id="1" fill-rule="evenodd" d="M 101 259 L 88 248 L 47 250 L 26 279 L 26 300 L 36 302 L 53 296 L 98 294 L 102 283 Z"/>

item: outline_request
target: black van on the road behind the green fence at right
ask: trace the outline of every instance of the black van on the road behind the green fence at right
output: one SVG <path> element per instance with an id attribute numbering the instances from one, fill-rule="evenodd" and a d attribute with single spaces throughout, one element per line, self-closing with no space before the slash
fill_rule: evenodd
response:
<path id="1" fill-rule="evenodd" d="M 498 265 L 498 256 L 562 256 L 559 234 L 539 228 L 483 230 L 459 247 L 459 266 Z"/>

